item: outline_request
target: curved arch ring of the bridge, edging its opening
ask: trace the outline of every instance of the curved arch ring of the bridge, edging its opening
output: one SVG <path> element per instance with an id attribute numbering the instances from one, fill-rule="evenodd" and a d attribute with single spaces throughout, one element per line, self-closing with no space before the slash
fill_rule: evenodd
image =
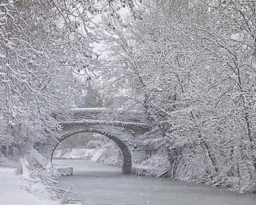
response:
<path id="1" fill-rule="evenodd" d="M 132 156 L 131 156 L 131 152 L 128 148 L 127 143 L 125 143 L 122 139 L 119 138 L 118 135 L 115 135 L 113 132 L 106 131 L 105 129 L 102 130 L 101 128 L 92 128 L 92 127 L 87 128 L 87 127 L 84 127 L 82 129 L 74 129 L 74 130 L 69 131 L 66 134 L 62 135 L 61 138 L 58 139 L 58 142 L 56 142 L 56 144 L 54 145 L 54 148 L 52 149 L 51 160 L 52 160 L 52 156 L 54 154 L 54 151 L 55 151 L 56 147 L 59 145 L 59 143 L 64 141 L 64 139 L 67 139 L 69 136 L 79 134 L 79 133 L 82 133 L 82 132 L 94 132 L 94 133 L 97 133 L 97 134 L 101 134 L 101 135 L 107 136 L 107 138 L 112 139 L 112 141 L 117 143 L 117 145 L 121 149 L 122 154 L 124 156 L 124 162 L 122 164 L 122 172 L 125 173 L 125 174 L 131 174 Z"/>

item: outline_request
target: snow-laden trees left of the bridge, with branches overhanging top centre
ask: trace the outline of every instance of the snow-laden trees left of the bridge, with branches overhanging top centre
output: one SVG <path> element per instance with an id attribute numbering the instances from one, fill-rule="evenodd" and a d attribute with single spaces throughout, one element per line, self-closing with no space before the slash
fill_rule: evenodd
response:
<path id="1" fill-rule="evenodd" d="M 0 1 L 1 151 L 22 153 L 56 135 L 52 113 L 83 104 L 79 80 L 91 80 L 97 65 L 94 17 L 134 6 L 131 0 Z"/>

